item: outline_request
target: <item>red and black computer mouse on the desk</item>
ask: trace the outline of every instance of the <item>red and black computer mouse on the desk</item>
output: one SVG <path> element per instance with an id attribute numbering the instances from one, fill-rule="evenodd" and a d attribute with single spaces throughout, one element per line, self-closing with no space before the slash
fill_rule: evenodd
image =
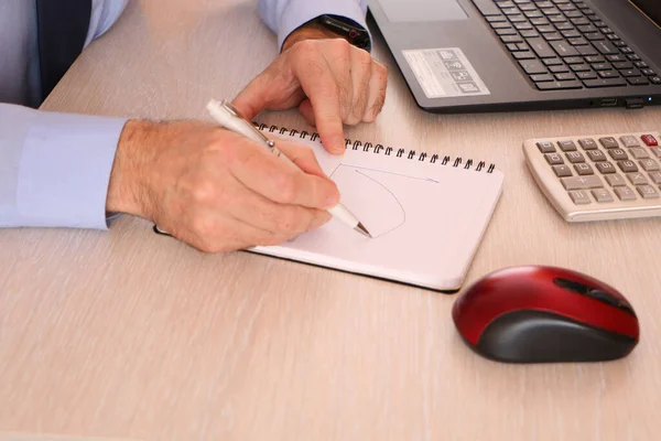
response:
<path id="1" fill-rule="evenodd" d="M 485 276 L 459 294 L 452 315 L 475 352 L 507 363 L 610 361 L 640 338 L 636 312 L 615 288 L 548 266 Z"/>

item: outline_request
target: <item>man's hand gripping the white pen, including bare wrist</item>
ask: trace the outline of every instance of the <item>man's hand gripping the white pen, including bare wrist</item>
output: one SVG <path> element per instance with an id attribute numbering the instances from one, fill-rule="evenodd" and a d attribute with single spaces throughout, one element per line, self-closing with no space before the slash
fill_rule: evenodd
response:
<path id="1" fill-rule="evenodd" d="M 214 125 L 129 121 L 106 208 L 207 252 L 281 244 L 325 224 L 339 193 L 308 148 L 278 148 L 297 166 Z"/>

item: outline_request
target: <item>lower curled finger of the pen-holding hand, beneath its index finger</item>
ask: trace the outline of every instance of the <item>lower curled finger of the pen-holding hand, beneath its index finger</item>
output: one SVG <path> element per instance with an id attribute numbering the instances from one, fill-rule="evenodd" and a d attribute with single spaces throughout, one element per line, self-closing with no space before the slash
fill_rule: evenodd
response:
<path id="1" fill-rule="evenodd" d="M 236 192 L 236 201 L 228 207 L 235 218 L 278 236 L 293 237 L 330 219 L 326 211 L 278 204 L 246 187 Z"/>

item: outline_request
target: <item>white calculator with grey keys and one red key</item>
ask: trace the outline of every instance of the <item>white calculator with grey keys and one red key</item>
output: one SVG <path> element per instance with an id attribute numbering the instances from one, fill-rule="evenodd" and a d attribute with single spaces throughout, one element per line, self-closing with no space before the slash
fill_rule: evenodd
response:
<path id="1" fill-rule="evenodd" d="M 661 216 L 658 131 L 529 139 L 525 163 L 567 222 Z"/>

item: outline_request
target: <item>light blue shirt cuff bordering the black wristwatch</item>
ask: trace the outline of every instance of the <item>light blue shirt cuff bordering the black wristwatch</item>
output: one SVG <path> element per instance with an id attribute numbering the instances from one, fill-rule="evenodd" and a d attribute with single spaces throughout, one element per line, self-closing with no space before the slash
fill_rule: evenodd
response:
<path id="1" fill-rule="evenodd" d="M 280 17 L 280 23 L 278 25 L 278 47 L 282 50 L 284 41 L 292 32 L 321 15 L 344 17 L 355 21 L 356 24 L 361 25 L 369 32 L 365 21 L 365 13 L 356 0 L 334 0 L 332 2 L 292 0 L 288 4 L 284 13 Z"/>

